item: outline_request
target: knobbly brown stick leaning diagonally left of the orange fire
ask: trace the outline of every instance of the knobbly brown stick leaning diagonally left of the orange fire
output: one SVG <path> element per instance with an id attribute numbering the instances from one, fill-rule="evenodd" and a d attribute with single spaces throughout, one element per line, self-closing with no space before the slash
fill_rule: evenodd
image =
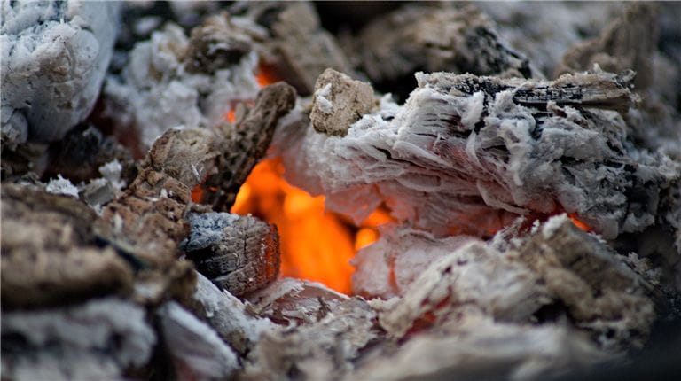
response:
<path id="1" fill-rule="evenodd" d="M 261 90 L 236 126 L 168 130 L 154 142 L 135 181 L 104 209 L 100 235 L 147 265 L 170 265 L 178 258 L 177 243 L 189 233 L 184 216 L 192 189 L 204 181 L 218 186 L 213 205 L 229 209 L 294 99 L 293 88 L 275 83 Z"/>

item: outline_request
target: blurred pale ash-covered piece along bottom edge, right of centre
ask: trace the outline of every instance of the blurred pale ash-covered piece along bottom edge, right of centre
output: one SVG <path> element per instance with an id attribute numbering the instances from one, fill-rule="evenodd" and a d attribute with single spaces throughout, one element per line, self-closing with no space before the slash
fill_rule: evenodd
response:
<path id="1" fill-rule="evenodd" d="M 367 354 L 344 379 L 544 379 L 611 357 L 567 327 L 499 323 L 477 311 L 384 352 Z"/>

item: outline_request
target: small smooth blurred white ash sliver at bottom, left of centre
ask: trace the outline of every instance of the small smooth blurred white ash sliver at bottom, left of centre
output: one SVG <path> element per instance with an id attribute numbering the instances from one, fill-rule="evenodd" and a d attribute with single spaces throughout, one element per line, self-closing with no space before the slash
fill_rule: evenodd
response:
<path id="1" fill-rule="evenodd" d="M 174 301 L 159 307 L 160 326 L 177 376 L 192 379 L 229 378 L 239 368 L 237 355 L 206 323 Z"/>

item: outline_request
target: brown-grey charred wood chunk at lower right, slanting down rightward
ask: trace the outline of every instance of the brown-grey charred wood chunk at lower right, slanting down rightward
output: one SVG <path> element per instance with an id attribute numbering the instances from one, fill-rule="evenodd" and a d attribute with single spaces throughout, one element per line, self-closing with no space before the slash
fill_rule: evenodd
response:
<path id="1" fill-rule="evenodd" d="M 575 326 L 590 331 L 600 346 L 622 350 L 646 342 L 661 284 L 659 275 L 635 253 L 631 258 L 614 253 L 563 215 L 530 237 L 519 257 L 541 276 Z"/>

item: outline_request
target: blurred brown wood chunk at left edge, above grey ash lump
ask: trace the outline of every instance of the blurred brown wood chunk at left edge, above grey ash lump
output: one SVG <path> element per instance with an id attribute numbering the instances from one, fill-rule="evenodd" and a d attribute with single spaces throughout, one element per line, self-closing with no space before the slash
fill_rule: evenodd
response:
<path id="1" fill-rule="evenodd" d="M 4 308 L 132 292 L 132 269 L 98 245 L 89 206 L 30 185 L 4 184 L 2 193 Z"/>

